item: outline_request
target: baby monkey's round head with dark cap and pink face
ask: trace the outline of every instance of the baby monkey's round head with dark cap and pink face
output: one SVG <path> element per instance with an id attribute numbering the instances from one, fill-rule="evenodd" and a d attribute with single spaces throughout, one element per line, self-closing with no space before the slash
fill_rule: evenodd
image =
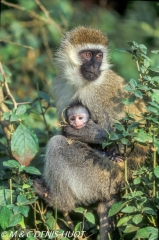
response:
<path id="1" fill-rule="evenodd" d="M 89 110 L 80 103 L 71 104 L 65 111 L 68 124 L 75 129 L 83 128 L 91 118 Z"/>

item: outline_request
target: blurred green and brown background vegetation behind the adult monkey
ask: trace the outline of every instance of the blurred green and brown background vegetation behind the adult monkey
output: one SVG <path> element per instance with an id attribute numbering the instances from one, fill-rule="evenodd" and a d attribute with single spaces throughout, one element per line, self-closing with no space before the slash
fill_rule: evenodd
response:
<path id="1" fill-rule="evenodd" d="M 35 111 L 27 125 L 38 135 L 41 152 L 58 122 L 53 104 L 45 114 L 39 112 L 38 91 L 51 96 L 50 84 L 57 74 L 54 53 L 63 34 L 78 25 L 100 28 L 110 40 L 110 62 L 114 71 L 126 80 L 138 78 L 129 54 L 116 51 L 127 48 L 127 41 L 148 47 L 151 65 L 159 65 L 151 50 L 159 46 L 159 3 L 118 0 L 1 0 L 0 61 L 12 72 L 10 89 L 17 102 L 32 102 Z M 9 102 L 7 103 L 9 106 Z M 47 102 L 43 102 L 47 105 Z M 48 136 L 49 135 L 49 136 Z M 4 139 L 0 132 L 1 156 Z M 43 158 L 43 155 L 41 155 Z"/>

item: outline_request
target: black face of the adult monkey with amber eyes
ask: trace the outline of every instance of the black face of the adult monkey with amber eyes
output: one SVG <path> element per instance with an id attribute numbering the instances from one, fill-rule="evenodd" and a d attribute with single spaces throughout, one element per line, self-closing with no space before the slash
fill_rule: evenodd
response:
<path id="1" fill-rule="evenodd" d="M 81 74 L 88 81 L 96 80 L 100 76 L 103 53 L 99 50 L 84 50 L 79 53 L 82 60 Z"/>

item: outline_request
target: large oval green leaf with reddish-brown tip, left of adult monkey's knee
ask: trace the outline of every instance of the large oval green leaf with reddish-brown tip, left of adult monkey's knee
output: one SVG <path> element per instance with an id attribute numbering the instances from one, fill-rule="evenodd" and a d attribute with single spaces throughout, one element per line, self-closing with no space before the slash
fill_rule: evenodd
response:
<path id="1" fill-rule="evenodd" d="M 11 150 L 21 165 L 28 166 L 39 150 L 37 136 L 27 126 L 20 124 L 12 136 Z"/>

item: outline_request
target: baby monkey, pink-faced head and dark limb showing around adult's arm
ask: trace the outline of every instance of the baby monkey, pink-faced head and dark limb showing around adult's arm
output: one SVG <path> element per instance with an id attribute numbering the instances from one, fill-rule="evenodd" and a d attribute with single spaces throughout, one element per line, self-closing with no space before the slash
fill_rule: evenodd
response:
<path id="1" fill-rule="evenodd" d="M 67 123 L 75 129 L 83 128 L 87 122 L 91 119 L 91 114 L 83 104 L 81 103 L 72 103 L 69 107 L 65 110 L 65 120 Z M 92 145 L 92 147 L 96 148 L 97 146 Z M 97 147 L 98 153 L 103 155 L 103 157 L 108 157 L 110 160 L 115 162 L 122 162 L 122 157 L 114 151 L 113 147 L 109 149 L 99 150 Z"/>

